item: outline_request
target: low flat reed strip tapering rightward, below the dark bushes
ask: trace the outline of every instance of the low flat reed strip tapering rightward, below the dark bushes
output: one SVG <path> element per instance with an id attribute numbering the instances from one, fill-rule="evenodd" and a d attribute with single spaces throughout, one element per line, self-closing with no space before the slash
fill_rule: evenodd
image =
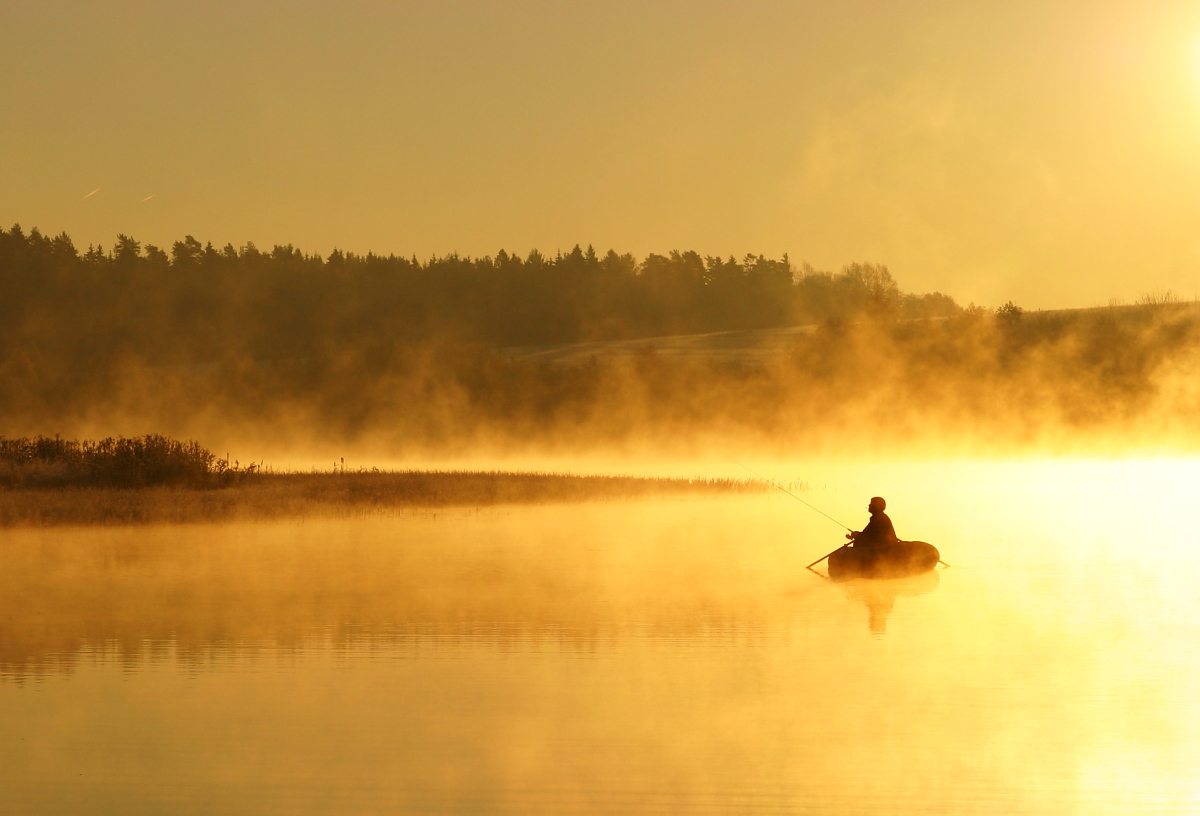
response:
<path id="1" fill-rule="evenodd" d="M 11 487 L 0 490 L 0 527 L 361 516 L 762 490 L 760 482 L 734 479 L 467 470 L 260 473 L 215 488 Z"/>

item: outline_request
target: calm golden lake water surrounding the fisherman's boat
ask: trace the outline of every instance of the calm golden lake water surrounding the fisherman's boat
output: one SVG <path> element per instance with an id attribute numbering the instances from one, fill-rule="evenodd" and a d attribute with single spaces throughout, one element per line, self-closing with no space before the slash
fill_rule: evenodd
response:
<path id="1" fill-rule="evenodd" d="M 4 532 L 12 814 L 1200 811 L 1200 462 L 776 467 L 786 496 Z"/>

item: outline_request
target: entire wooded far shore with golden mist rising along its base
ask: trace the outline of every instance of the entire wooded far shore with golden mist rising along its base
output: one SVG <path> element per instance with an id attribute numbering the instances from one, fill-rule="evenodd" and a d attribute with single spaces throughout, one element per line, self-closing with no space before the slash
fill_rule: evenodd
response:
<path id="1" fill-rule="evenodd" d="M 0 436 L 395 452 L 1200 439 L 1200 320 L 1170 298 L 989 312 L 905 293 L 882 265 L 786 256 L 421 262 L 125 235 L 80 252 L 20 227 L 0 230 Z M 809 329 L 749 362 L 520 353 L 784 326 Z"/>

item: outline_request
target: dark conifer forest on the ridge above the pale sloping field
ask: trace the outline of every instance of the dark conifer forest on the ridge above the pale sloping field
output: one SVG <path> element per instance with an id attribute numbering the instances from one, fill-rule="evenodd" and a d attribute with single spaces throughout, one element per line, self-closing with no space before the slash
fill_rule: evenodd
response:
<path id="1" fill-rule="evenodd" d="M 86 362 L 127 354 L 161 365 L 229 355 L 308 359 L 340 349 L 452 340 L 487 347 L 763 329 L 859 314 L 946 317 L 948 295 L 902 293 L 886 266 L 838 272 L 746 254 L 590 246 L 553 257 L 499 251 L 428 260 L 328 257 L 293 246 L 217 248 L 191 235 L 169 252 L 119 235 L 78 251 L 66 234 L 0 229 L 0 352 Z"/>

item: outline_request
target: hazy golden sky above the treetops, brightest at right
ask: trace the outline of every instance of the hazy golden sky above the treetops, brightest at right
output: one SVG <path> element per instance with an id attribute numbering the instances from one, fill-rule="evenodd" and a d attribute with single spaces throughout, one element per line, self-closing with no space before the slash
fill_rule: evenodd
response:
<path id="1" fill-rule="evenodd" d="M 79 246 L 578 242 L 872 260 L 986 305 L 1200 292 L 1194 0 L 0 0 L 0 220 Z"/>

